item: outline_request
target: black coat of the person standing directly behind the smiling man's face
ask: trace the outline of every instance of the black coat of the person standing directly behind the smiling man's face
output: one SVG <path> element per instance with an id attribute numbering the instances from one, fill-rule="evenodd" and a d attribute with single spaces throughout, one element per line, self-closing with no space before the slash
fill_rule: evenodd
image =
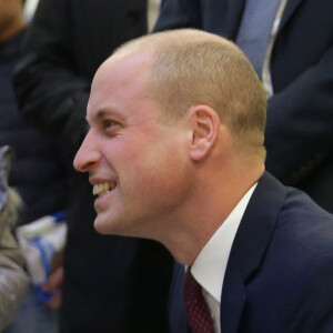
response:
<path id="1" fill-rule="evenodd" d="M 142 0 L 40 0 L 16 75 L 22 115 L 75 151 L 95 70 L 145 31 Z M 88 176 L 78 174 L 67 215 L 60 332 L 168 332 L 171 255 L 152 241 L 98 234 L 91 192 Z"/>

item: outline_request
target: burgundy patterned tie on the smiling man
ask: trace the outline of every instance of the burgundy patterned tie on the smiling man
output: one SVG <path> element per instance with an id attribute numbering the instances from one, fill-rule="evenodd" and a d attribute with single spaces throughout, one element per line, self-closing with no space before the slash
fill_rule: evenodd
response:
<path id="1" fill-rule="evenodd" d="M 192 333 L 213 333 L 213 321 L 202 294 L 201 285 L 192 276 L 190 268 L 184 281 L 184 306 Z"/>

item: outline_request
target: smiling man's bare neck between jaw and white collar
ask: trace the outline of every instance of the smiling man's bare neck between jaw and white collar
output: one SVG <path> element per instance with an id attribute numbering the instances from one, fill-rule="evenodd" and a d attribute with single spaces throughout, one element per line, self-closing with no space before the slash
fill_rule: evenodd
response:
<path id="1" fill-rule="evenodd" d="M 220 179 L 204 178 L 198 186 L 198 195 L 188 202 L 182 215 L 173 220 L 172 229 L 164 233 L 167 238 L 162 240 L 178 262 L 192 265 L 200 251 L 263 172 L 264 167 L 261 165 L 252 172 L 246 170 L 235 175 L 233 171 L 232 174 L 224 171 Z"/>

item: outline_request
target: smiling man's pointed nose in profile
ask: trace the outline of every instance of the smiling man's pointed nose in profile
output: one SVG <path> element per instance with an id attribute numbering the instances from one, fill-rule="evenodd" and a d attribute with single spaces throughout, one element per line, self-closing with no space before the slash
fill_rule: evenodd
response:
<path id="1" fill-rule="evenodd" d="M 93 130 L 90 129 L 80 149 L 77 152 L 73 165 L 80 172 L 91 171 L 91 169 L 100 160 L 100 157 L 101 154 L 98 150 L 97 140 L 93 135 Z"/>

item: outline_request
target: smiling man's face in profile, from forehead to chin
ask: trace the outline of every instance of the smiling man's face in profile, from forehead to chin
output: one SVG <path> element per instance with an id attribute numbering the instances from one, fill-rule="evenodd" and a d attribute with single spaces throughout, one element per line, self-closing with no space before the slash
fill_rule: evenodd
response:
<path id="1" fill-rule="evenodd" d="M 161 123 L 145 87 L 150 62 L 148 53 L 111 58 L 92 83 L 91 128 L 74 167 L 90 173 L 101 233 L 159 239 L 191 191 L 186 121 Z"/>

